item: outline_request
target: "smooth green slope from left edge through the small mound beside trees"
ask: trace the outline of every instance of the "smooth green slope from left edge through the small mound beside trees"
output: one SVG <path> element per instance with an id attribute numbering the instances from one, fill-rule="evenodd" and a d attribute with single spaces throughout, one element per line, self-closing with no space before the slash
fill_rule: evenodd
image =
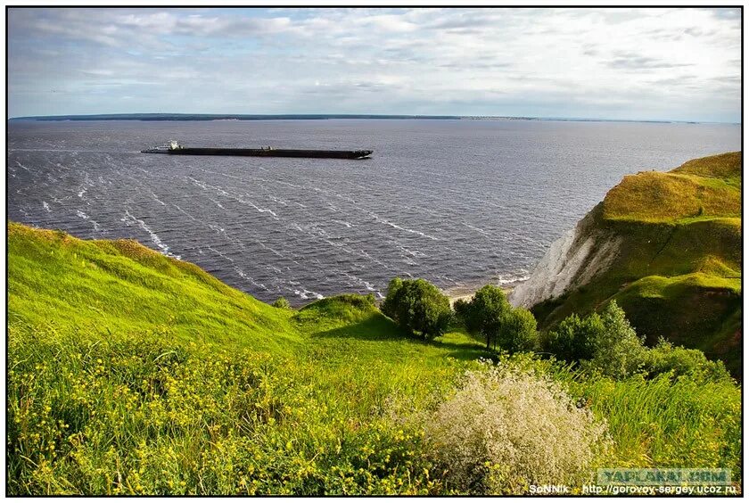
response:
<path id="1" fill-rule="evenodd" d="M 442 345 L 427 344 L 435 350 L 424 350 L 421 342 L 408 340 L 389 318 L 356 295 L 313 302 L 299 311 L 277 309 L 194 264 L 135 241 L 86 241 L 9 222 L 8 264 L 11 326 L 98 334 L 162 332 L 180 342 L 285 356 L 325 348 L 325 341 L 333 339 L 338 348 L 347 340 L 357 341 L 358 356 L 374 358 L 383 351 L 396 360 L 416 354 L 464 359 L 483 354 L 479 342 L 459 333 L 440 338 Z M 375 353 L 361 350 L 374 342 Z M 395 342 L 391 355 L 388 342 Z M 353 355 L 345 350 L 337 355 L 349 356 Z"/>

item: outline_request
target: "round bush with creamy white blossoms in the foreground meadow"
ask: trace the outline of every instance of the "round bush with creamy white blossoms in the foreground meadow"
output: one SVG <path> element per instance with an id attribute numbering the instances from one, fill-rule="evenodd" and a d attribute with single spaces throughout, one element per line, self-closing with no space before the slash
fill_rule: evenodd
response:
<path id="1" fill-rule="evenodd" d="M 559 383 L 529 369 L 490 364 L 466 373 L 425 430 L 451 489 L 472 493 L 577 485 L 608 446 L 605 425 L 578 408 Z"/>

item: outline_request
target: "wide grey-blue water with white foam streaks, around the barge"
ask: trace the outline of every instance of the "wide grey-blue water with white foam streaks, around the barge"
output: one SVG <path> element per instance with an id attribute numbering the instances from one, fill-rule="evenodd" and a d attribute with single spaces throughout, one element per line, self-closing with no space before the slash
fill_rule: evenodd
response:
<path id="1" fill-rule="evenodd" d="M 371 160 L 142 154 L 373 149 Z M 12 122 L 8 217 L 133 238 L 263 301 L 511 284 L 628 173 L 740 149 L 737 125 L 527 120 Z"/>

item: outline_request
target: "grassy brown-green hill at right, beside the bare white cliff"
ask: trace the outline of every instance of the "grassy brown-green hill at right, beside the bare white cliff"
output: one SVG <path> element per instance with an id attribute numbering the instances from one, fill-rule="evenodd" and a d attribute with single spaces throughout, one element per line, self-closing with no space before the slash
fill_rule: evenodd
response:
<path id="1" fill-rule="evenodd" d="M 593 210 L 597 246 L 617 242 L 601 273 L 533 311 L 554 326 L 615 299 L 649 342 L 663 336 L 741 375 L 741 153 L 624 177 Z"/>

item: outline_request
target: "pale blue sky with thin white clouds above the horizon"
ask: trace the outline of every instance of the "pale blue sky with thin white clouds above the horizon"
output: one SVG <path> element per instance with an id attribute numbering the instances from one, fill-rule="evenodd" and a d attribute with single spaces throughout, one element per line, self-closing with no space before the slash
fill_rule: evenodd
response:
<path id="1" fill-rule="evenodd" d="M 8 11 L 8 116 L 741 120 L 739 9 Z"/>

